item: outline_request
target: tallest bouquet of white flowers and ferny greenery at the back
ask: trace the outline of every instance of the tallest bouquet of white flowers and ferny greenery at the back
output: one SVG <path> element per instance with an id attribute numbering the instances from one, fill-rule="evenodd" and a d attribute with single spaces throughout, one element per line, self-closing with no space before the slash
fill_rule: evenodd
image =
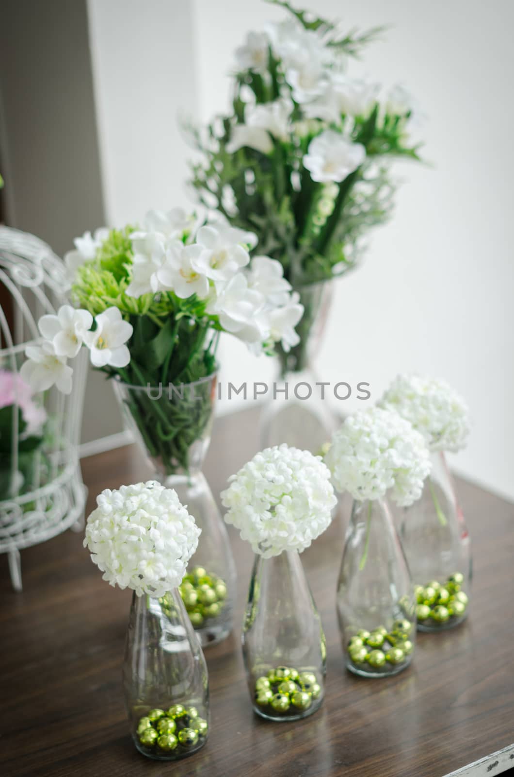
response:
<path id="1" fill-rule="evenodd" d="M 355 267 L 366 233 L 391 213 L 391 162 L 419 159 L 418 146 L 412 96 L 401 85 L 382 96 L 346 73 L 378 30 L 343 35 L 315 13 L 269 2 L 290 16 L 248 33 L 235 52 L 231 113 L 192 131 L 201 154 L 192 183 L 203 204 L 258 235 L 259 251 L 303 295 L 300 343 L 279 348 L 300 370 L 317 314 L 309 284 Z"/>

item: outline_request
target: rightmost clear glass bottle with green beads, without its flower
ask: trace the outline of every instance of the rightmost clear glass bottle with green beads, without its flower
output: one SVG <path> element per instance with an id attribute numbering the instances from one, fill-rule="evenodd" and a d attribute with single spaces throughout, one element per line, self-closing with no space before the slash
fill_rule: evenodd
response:
<path id="1" fill-rule="evenodd" d="M 401 538 L 415 583 L 418 629 L 459 625 L 469 607 L 471 542 L 442 451 L 432 454 L 422 497 L 405 508 Z"/>

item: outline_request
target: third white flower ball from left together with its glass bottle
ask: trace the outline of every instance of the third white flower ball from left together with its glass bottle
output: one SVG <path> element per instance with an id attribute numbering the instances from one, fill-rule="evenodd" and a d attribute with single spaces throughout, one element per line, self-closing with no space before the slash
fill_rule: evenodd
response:
<path id="1" fill-rule="evenodd" d="M 421 496 L 429 451 L 397 413 L 371 408 L 348 416 L 326 462 L 353 510 L 336 594 L 346 667 L 363 677 L 387 677 L 412 661 L 415 596 L 386 494 L 400 505 Z"/>

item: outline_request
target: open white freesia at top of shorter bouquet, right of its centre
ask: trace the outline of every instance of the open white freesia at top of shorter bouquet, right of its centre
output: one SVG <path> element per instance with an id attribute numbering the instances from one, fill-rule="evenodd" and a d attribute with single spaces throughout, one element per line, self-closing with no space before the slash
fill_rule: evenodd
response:
<path id="1" fill-rule="evenodd" d="M 201 249 L 195 260 L 196 270 L 217 283 L 230 280 L 250 261 L 240 239 L 241 232 L 234 232 L 231 227 L 200 227 L 196 233 L 196 246 Z"/>

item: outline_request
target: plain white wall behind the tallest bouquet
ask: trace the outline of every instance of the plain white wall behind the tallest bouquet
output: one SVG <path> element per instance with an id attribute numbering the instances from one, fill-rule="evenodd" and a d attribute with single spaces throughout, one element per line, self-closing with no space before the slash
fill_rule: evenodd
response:
<path id="1" fill-rule="evenodd" d="M 474 415 L 471 442 L 452 463 L 514 497 L 514 4 L 310 5 L 344 18 L 347 28 L 390 26 L 360 69 L 384 84 L 405 82 L 415 92 L 429 115 L 422 134 L 424 157 L 432 163 L 401 166 L 405 185 L 394 221 L 375 233 L 363 266 L 337 281 L 318 372 L 332 382 L 367 380 L 375 397 L 398 371 L 446 378 Z M 201 115 L 207 120 L 227 106 L 234 47 L 247 30 L 281 12 L 260 0 L 195 0 L 194 7 Z M 269 362 L 256 361 L 229 338 L 221 357 L 224 381 L 271 375 Z"/>

